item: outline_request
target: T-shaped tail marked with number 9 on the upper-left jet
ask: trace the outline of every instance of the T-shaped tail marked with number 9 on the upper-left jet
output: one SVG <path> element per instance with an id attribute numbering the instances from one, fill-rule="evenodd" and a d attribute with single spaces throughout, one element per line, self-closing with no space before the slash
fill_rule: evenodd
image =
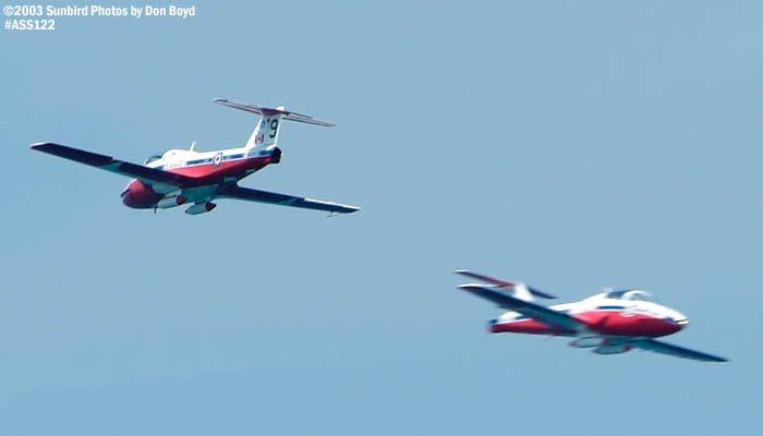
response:
<path id="1" fill-rule="evenodd" d="M 266 150 L 275 148 L 276 143 L 278 142 L 278 132 L 281 120 L 296 121 L 327 128 L 337 125 L 332 122 L 319 120 L 311 116 L 288 111 L 283 106 L 266 108 L 256 105 L 244 105 L 241 102 L 227 100 L 225 98 L 216 98 L 214 101 L 218 105 L 228 106 L 230 108 L 240 109 L 246 112 L 258 113 L 262 116 L 257 122 L 257 126 L 254 128 L 254 132 L 252 132 L 249 141 L 246 141 L 246 148 L 256 147 L 258 149 Z"/>

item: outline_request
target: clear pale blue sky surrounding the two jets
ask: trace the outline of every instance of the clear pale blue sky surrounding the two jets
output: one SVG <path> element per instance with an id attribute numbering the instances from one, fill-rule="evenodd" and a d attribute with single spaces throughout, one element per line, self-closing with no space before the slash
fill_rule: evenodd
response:
<path id="1" fill-rule="evenodd" d="M 0 434 L 760 434 L 763 5 L 664 3 L 197 2 L 3 31 Z M 363 210 L 154 215 L 28 149 L 242 144 L 256 117 L 216 97 L 337 122 L 284 124 L 242 184 Z M 731 362 L 489 335 L 456 268 L 650 290 L 689 316 L 668 341 Z"/>

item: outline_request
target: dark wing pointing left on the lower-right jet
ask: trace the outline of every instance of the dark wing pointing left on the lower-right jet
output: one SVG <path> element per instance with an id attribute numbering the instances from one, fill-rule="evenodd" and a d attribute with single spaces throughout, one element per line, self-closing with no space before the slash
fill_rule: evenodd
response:
<path id="1" fill-rule="evenodd" d="M 459 289 L 469 291 L 474 295 L 492 301 L 501 307 L 519 312 L 550 326 L 560 327 L 571 332 L 589 330 L 588 325 L 580 319 L 541 304 L 517 299 L 507 294 L 506 292 L 500 291 L 497 287 L 469 283 L 459 286 Z"/>

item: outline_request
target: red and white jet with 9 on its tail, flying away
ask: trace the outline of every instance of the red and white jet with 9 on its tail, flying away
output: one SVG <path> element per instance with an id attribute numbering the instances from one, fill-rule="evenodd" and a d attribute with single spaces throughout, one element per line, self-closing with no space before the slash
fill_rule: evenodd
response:
<path id="1" fill-rule="evenodd" d="M 131 164 L 53 143 L 32 144 L 32 148 L 106 171 L 134 178 L 122 191 L 122 203 L 138 209 L 167 209 L 191 205 L 189 215 L 210 211 L 216 198 L 235 198 L 269 203 L 306 209 L 326 210 L 331 214 L 350 214 L 358 207 L 332 202 L 278 194 L 239 186 L 238 182 L 270 164 L 281 161 L 281 149 L 276 146 L 282 120 L 332 126 L 328 121 L 290 112 L 282 106 L 265 108 L 226 99 L 215 102 L 262 116 L 254 132 L 242 147 L 214 152 L 197 152 L 195 143 L 190 149 L 169 149 L 149 157 L 144 165 Z"/>

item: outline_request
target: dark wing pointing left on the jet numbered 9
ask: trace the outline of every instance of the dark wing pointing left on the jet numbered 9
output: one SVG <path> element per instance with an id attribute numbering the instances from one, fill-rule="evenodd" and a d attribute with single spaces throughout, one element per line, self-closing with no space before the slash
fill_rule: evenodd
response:
<path id="1" fill-rule="evenodd" d="M 68 147 L 65 145 L 37 143 L 32 144 L 32 149 L 62 157 L 64 159 L 74 160 L 75 162 L 89 165 L 90 167 L 100 168 L 106 171 L 116 172 L 117 174 L 140 179 L 147 184 L 165 183 L 179 187 L 198 184 L 196 179 L 187 175 L 161 171 L 145 167 L 143 165 L 125 162 L 123 160 L 114 159 L 111 156 L 85 152 L 78 148 Z"/>

